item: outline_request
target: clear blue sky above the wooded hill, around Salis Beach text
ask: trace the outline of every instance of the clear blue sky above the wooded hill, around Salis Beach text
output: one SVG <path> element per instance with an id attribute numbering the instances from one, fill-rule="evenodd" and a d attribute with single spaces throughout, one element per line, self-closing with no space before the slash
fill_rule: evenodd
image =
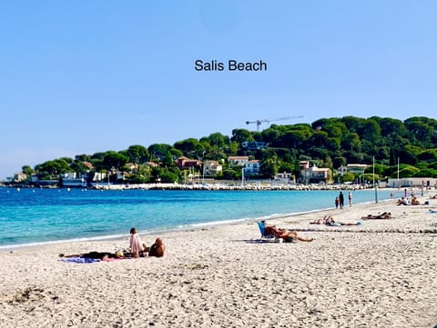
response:
<path id="1" fill-rule="evenodd" d="M 0 180 L 61 156 L 255 130 L 247 120 L 435 118 L 436 35 L 431 0 L 3 1 Z M 197 59 L 268 70 L 198 72 Z"/>

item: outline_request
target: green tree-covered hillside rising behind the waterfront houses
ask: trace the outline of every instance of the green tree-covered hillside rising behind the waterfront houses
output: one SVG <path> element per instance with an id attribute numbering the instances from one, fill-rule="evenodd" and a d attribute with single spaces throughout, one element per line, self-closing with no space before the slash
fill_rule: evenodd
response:
<path id="1" fill-rule="evenodd" d="M 250 147 L 248 142 L 267 144 Z M 250 144 L 250 143 L 249 143 Z M 252 143 L 255 144 L 255 143 Z M 377 173 L 391 176 L 401 164 L 401 176 L 437 177 L 437 120 L 411 117 L 405 121 L 373 116 L 320 118 L 312 124 L 272 124 L 263 131 L 235 129 L 229 137 L 209 134 L 199 140 L 188 138 L 173 145 L 131 145 L 126 150 L 77 154 L 23 166 L 25 174 L 56 178 L 76 172 L 126 172 L 132 183 L 181 181 L 185 172 L 175 164 L 180 156 L 223 164 L 218 178 L 238 178 L 239 170 L 227 164 L 229 155 L 249 155 L 260 160 L 261 175 L 278 172 L 299 174 L 299 162 L 310 160 L 319 167 L 335 170 L 344 164 L 377 163 Z M 129 164 L 129 165 L 127 165 Z M 132 169 L 132 164 L 136 169 Z M 115 179 L 115 178 L 113 178 Z"/>

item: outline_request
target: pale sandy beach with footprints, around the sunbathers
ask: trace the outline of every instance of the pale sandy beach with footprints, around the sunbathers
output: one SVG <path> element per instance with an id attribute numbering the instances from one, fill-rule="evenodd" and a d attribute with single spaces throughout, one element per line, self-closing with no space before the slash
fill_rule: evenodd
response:
<path id="1" fill-rule="evenodd" d="M 434 327 L 437 200 L 419 200 L 269 222 L 311 243 L 261 242 L 249 222 L 139 232 L 146 244 L 163 239 L 163 258 L 59 261 L 59 253 L 126 248 L 128 236 L 2 250 L 0 327 Z M 382 212 L 394 218 L 361 220 Z M 325 214 L 362 224 L 310 224 Z"/>

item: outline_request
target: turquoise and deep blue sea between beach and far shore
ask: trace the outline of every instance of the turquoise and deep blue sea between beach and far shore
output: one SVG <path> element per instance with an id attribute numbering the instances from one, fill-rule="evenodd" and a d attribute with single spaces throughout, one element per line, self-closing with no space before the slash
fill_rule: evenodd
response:
<path id="1" fill-rule="evenodd" d="M 378 201 L 392 190 L 379 190 Z M 334 208 L 339 191 L 188 191 L 0 188 L 0 249 L 124 237 Z M 345 203 L 348 206 L 348 192 Z M 353 204 L 375 203 L 374 190 Z M 401 193 L 395 193 L 400 197 Z"/>

